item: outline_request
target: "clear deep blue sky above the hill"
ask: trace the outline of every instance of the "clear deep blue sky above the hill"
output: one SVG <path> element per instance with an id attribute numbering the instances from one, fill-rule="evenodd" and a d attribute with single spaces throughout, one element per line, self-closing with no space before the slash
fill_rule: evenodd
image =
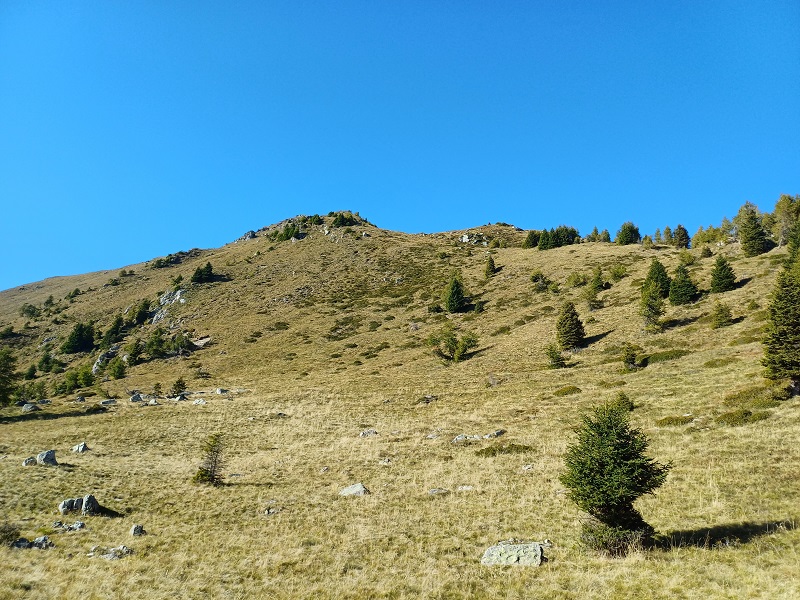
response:
<path id="1" fill-rule="evenodd" d="M 351 209 L 612 235 L 800 193 L 800 3 L 0 1 L 0 289 Z"/>

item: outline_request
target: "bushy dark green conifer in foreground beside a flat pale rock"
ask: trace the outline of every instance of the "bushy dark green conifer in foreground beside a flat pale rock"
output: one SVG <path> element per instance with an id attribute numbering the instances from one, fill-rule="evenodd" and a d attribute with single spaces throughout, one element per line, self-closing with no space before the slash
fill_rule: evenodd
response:
<path id="1" fill-rule="evenodd" d="M 654 532 L 633 503 L 654 493 L 671 465 L 645 454 L 647 436 L 631 427 L 628 412 L 618 407 L 596 407 L 583 416 L 576 432 L 578 440 L 568 448 L 565 471 L 559 477 L 569 498 L 597 522 L 617 530 L 615 538 L 626 531 L 638 532 L 646 543 Z M 585 527 L 584 535 L 591 534 L 592 529 Z"/>

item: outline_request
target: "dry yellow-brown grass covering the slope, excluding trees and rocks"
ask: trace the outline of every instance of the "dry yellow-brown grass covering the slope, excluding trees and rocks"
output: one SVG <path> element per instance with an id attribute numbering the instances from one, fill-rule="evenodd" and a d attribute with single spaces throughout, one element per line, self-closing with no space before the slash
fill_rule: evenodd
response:
<path id="1" fill-rule="evenodd" d="M 743 258 L 735 244 L 714 248 L 731 260 L 738 287 L 667 305 L 664 332 L 648 334 L 639 288 L 652 257 L 672 273 L 680 260 L 674 248 L 584 243 L 538 251 L 521 248 L 525 232 L 505 225 L 435 235 L 330 225 L 308 226 L 299 240 L 270 239 L 281 223 L 164 268 L 121 266 L 133 274 L 55 278 L 0 293 L 0 328 L 13 331 L 2 342 L 20 371 L 40 360 L 47 338 L 55 338 L 55 352 L 77 322 L 105 331 L 140 300 L 157 304 L 178 275 L 185 303 L 169 305 L 158 324 L 132 328 L 123 345 L 159 325 L 212 339 L 187 356 L 147 361 L 123 379 L 101 377 L 53 397 L 33 415 L 0 410 L 0 521 L 28 538 L 51 534 L 56 544 L 0 549 L 0 597 L 800 595 L 799 405 L 773 399 L 759 362 L 783 250 Z M 464 234 L 469 242 L 460 241 Z M 498 267 L 489 279 L 487 253 Z M 707 290 L 714 259 L 690 254 L 692 277 Z M 188 284 L 207 262 L 217 280 Z M 571 283 L 595 267 L 610 287 L 602 307 L 589 311 L 583 287 Z M 612 280 L 621 267 L 625 275 Z M 432 309 L 454 270 L 482 312 Z M 534 271 L 557 285 L 536 291 Z M 118 284 L 107 285 L 113 278 Z M 76 288 L 82 293 L 67 300 Z M 717 299 L 734 323 L 712 329 Z M 569 368 L 550 370 L 543 349 L 566 300 L 576 303 L 589 343 Z M 39 317 L 21 316 L 25 304 Z M 457 364 L 425 343 L 448 320 L 479 338 Z M 637 346 L 646 366 L 623 371 L 625 343 Z M 96 356 L 56 352 L 67 371 Z M 63 377 L 38 380 L 52 390 Z M 179 377 L 193 392 L 189 401 L 128 401 L 128 391 L 168 389 Z M 674 467 L 656 496 L 637 503 L 661 534 L 659 549 L 612 560 L 581 548 L 580 515 L 558 474 L 582 412 L 619 391 L 633 400 L 631 418 L 650 437 L 650 453 Z M 86 403 L 73 402 L 77 394 Z M 118 404 L 86 411 L 106 396 Z M 206 404 L 195 405 L 197 398 Z M 763 418 L 729 424 L 725 416 L 739 409 Z M 360 437 L 367 429 L 378 435 Z M 451 443 L 498 429 L 507 432 Z M 192 484 L 200 449 L 218 431 L 227 485 Z M 92 450 L 70 453 L 81 441 Z M 496 456 L 476 454 L 492 447 L 500 448 Z M 51 448 L 61 466 L 21 466 Z M 338 496 L 359 481 L 371 495 Z M 449 493 L 430 494 L 435 488 Z M 120 516 L 54 532 L 54 520 L 73 519 L 57 514 L 58 502 L 87 493 Z M 148 535 L 131 537 L 134 523 Z M 538 569 L 482 567 L 483 550 L 509 538 L 549 538 L 550 561 Z M 119 544 L 134 553 L 116 562 L 87 556 L 95 545 Z"/>

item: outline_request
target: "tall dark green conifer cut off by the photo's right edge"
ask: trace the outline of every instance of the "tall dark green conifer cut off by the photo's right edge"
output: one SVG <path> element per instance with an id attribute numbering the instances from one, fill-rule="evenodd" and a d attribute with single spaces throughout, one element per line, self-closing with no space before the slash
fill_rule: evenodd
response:
<path id="1" fill-rule="evenodd" d="M 800 275 L 785 267 L 775 281 L 764 335 L 765 375 L 800 382 Z"/>

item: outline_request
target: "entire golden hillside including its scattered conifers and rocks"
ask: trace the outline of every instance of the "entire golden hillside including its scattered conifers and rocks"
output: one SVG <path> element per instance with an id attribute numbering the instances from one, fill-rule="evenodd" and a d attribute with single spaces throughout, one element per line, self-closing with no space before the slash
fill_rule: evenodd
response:
<path id="1" fill-rule="evenodd" d="M 0 598 L 800 597 L 800 196 L 630 218 L 0 292 Z"/>

